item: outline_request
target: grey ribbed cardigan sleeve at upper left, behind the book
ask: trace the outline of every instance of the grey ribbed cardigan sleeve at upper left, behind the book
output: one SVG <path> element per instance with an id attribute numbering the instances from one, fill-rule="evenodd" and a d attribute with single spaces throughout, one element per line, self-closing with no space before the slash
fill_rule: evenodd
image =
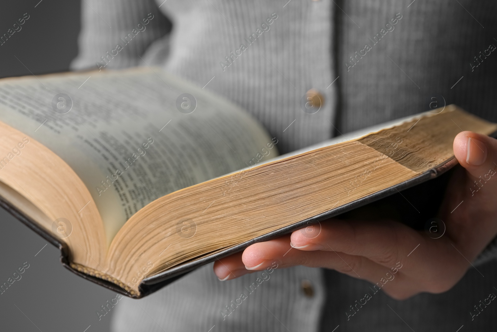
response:
<path id="1" fill-rule="evenodd" d="M 81 6 L 72 70 L 145 65 L 140 57 L 171 26 L 154 0 L 83 0 Z"/>

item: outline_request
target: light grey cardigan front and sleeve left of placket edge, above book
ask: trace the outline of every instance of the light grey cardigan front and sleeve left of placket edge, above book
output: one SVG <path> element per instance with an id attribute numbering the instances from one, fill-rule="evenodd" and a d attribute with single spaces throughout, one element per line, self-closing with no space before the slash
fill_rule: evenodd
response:
<path id="1" fill-rule="evenodd" d="M 255 116 L 273 137 L 278 137 L 280 152 L 330 138 L 336 100 L 335 85 L 327 89 L 336 78 L 331 69 L 330 1 L 292 0 L 284 8 L 284 3 L 275 1 L 209 1 L 167 0 L 160 9 L 173 23 L 171 35 L 146 50 L 164 31 L 164 23 L 156 17 L 143 35 L 139 33 L 124 46 L 126 53 L 119 53 L 105 68 L 162 66 L 200 87 L 214 77 L 205 89 L 229 98 Z M 149 12 L 157 12 L 151 1 L 86 2 L 101 17 L 82 2 L 81 54 L 73 62 L 75 69 L 95 67 L 115 43 L 122 44 L 119 38 L 136 28 Z M 267 24 L 273 13 L 277 18 Z M 269 30 L 250 45 L 246 38 L 257 29 L 262 31 L 262 23 Z M 223 71 L 220 63 L 227 63 L 226 57 L 241 44 L 247 50 L 233 57 L 233 63 Z M 315 114 L 302 111 L 300 106 L 301 98 L 311 88 L 321 91 L 325 98 Z"/>

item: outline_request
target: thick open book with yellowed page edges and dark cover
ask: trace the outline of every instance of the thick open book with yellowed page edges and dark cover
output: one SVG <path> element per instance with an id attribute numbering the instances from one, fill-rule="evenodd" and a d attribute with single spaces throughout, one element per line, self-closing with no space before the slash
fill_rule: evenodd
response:
<path id="1" fill-rule="evenodd" d="M 455 106 L 432 113 L 278 157 L 239 107 L 159 69 L 2 79 L 1 206 L 73 272 L 140 298 L 436 177 L 457 163 L 458 132 L 497 130 Z"/>

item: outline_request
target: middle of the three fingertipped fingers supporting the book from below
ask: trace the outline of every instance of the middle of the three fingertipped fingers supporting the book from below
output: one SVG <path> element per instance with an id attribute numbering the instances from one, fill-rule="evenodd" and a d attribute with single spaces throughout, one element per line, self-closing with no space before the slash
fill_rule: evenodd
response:
<path id="1" fill-rule="evenodd" d="M 353 256 L 335 251 L 303 251 L 295 249 L 290 246 L 288 236 L 250 245 L 245 249 L 242 260 L 248 268 L 252 266 L 252 269 L 257 270 L 269 266 L 285 268 L 304 265 L 333 269 L 351 277 L 373 283 L 380 281 L 382 278 L 395 278 L 395 273 L 388 268 L 363 256 Z M 395 272 L 397 272 L 397 269 Z"/>

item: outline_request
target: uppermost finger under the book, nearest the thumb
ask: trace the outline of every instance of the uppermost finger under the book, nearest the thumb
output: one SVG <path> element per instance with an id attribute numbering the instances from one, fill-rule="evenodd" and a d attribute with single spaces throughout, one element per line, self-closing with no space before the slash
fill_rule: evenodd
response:
<path id="1" fill-rule="evenodd" d="M 395 221 L 331 220 L 309 227 L 320 228 L 320 231 L 314 237 L 309 237 L 309 230 L 305 228 L 294 231 L 291 234 L 293 247 L 364 256 L 386 267 L 395 266 L 424 241 L 417 231 Z"/>

